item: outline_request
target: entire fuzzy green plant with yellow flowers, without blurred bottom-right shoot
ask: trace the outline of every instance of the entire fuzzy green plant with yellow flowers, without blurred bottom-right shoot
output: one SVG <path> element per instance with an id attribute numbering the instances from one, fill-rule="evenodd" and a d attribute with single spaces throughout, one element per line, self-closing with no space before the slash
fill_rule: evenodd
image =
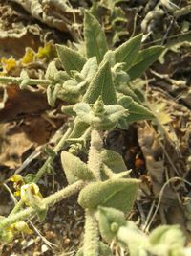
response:
<path id="1" fill-rule="evenodd" d="M 163 50 L 160 46 L 139 50 L 141 37 L 137 35 L 117 49 L 108 50 L 96 17 L 85 12 L 86 56 L 56 45 L 58 59 L 49 64 L 45 79 L 32 80 L 26 71 L 22 71 L 19 78 L 0 77 L 0 81 L 17 82 L 21 89 L 41 84 L 46 88 L 49 104 L 54 106 L 56 99 L 63 100 L 69 105 L 64 105 L 62 111 L 73 117 L 55 148 L 47 149 L 49 157 L 35 175 L 11 178 L 21 199 L 11 214 L 0 221 L 1 240 L 10 242 L 15 233 L 30 232 L 24 220 L 37 215 L 43 221 L 51 205 L 79 192 L 78 203 L 85 211 L 85 235 L 77 255 L 111 255 L 108 245 L 99 240 L 99 233 L 106 242 L 117 238 L 123 244 L 129 243 L 121 239 L 121 228 L 126 225 L 123 214 L 131 211 L 137 197 L 138 180 L 129 177 L 117 152 L 104 149 L 103 131 L 128 128 L 129 123 L 155 118 L 139 99 L 138 90 L 129 86 L 129 81 L 137 79 Z M 63 70 L 58 69 L 58 62 Z M 88 162 L 84 163 L 77 153 L 87 150 L 89 140 Z M 66 145 L 69 151 L 62 151 L 61 161 L 69 185 L 42 198 L 36 183 Z M 132 255 L 140 255 L 129 249 Z"/>

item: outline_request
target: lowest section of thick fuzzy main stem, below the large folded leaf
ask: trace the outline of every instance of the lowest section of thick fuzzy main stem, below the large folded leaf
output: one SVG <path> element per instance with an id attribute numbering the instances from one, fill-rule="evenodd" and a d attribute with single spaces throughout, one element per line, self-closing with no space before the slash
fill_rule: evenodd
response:
<path id="1" fill-rule="evenodd" d="M 86 209 L 85 215 L 85 234 L 83 255 L 84 256 L 98 256 L 99 255 L 99 235 L 98 227 L 94 212 Z"/>

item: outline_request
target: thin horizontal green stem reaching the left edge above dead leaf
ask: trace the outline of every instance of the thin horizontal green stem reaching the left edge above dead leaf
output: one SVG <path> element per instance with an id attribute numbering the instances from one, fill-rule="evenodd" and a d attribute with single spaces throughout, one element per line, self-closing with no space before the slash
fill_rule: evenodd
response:
<path id="1" fill-rule="evenodd" d="M 12 82 L 12 83 L 21 83 L 23 81 L 22 78 L 20 77 L 1 77 L 0 76 L 0 81 L 1 82 Z M 39 80 L 39 79 L 29 79 L 28 84 L 32 85 L 32 84 L 50 84 L 51 81 L 50 80 Z"/>

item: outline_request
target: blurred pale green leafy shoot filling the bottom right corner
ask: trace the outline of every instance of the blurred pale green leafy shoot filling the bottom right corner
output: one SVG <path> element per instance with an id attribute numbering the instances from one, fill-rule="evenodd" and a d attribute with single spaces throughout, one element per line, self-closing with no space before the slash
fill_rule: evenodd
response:
<path id="1" fill-rule="evenodd" d="M 126 221 L 124 214 L 114 208 L 98 207 L 96 212 L 102 238 L 108 243 L 113 240 L 128 249 L 131 256 L 188 256 L 185 237 L 177 225 L 160 225 L 149 236 L 140 231 L 133 221 Z"/>

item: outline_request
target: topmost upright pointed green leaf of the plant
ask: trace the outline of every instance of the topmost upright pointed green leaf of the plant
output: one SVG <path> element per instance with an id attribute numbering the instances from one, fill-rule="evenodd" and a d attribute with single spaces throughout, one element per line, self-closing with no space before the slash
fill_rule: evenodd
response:
<path id="1" fill-rule="evenodd" d="M 100 63 L 107 52 L 107 40 L 101 25 L 90 12 L 85 12 L 84 37 L 87 58 L 96 56 L 97 62 Z"/>

